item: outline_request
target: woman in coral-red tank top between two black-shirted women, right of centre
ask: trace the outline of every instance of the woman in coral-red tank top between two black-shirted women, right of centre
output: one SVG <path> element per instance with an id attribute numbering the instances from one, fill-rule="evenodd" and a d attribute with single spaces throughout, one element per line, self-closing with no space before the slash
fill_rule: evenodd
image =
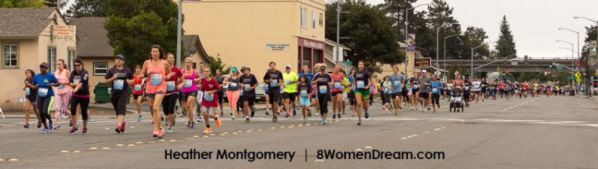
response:
<path id="1" fill-rule="evenodd" d="M 325 67 L 325 66 L 324 66 Z M 326 70 L 324 70 L 325 72 Z M 341 65 L 334 65 L 334 73 L 332 73 L 332 82 L 333 86 L 330 89 L 331 99 L 332 99 L 332 119 L 341 118 L 341 101 L 343 101 L 343 88 L 346 87 L 345 84 L 345 77 L 343 77 L 343 73 L 341 73 Z"/>

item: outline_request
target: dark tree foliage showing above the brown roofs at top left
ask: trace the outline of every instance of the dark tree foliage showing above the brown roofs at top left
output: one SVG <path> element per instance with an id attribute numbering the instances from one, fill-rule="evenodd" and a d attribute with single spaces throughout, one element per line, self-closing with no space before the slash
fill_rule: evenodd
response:
<path id="1" fill-rule="evenodd" d="M 106 17 L 108 15 L 108 1 L 77 0 L 70 6 L 73 17 Z"/>

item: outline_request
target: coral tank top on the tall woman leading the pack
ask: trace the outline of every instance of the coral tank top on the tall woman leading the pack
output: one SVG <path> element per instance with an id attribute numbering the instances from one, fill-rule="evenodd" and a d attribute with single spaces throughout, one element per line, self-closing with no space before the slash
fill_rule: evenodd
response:
<path id="1" fill-rule="evenodd" d="M 157 92 L 166 92 L 166 69 L 164 68 L 163 60 L 160 59 L 158 66 L 153 65 L 150 59 L 148 70 L 150 75 L 148 77 L 146 92 L 148 94 L 155 94 Z"/>

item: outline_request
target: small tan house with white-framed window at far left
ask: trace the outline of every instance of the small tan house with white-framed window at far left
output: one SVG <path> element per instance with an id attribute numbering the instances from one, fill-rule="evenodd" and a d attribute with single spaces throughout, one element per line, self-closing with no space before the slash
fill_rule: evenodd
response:
<path id="1" fill-rule="evenodd" d="M 52 33 L 67 25 L 56 8 L 0 8 L 0 107 L 20 110 L 25 104 L 25 70 L 39 73 L 39 63 L 50 63 L 51 73 L 56 61 L 64 59 L 72 65 L 77 53 L 74 35 L 53 39 Z M 77 29 L 74 29 L 77 30 Z M 72 68 L 68 66 L 68 68 Z"/>

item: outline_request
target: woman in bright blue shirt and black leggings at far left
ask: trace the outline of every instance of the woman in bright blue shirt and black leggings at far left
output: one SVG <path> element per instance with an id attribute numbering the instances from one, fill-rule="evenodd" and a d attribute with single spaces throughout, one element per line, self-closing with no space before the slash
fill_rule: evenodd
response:
<path id="1" fill-rule="evenodd" d="M 32 82 L 33 88 L 37 89 L 37 110 L 39 115 L 42 116 L 42 124 L 44 124 L 42 133 L 48 133 L 54 129 L 50 116 L 50 108 L 54 99 L 52 87 L 61 85 L 52 73 L 46 72 L 48 68 L 50 68 L 50 65 L 47 62 L 39 64 L 39 73 L 33 77 Z M 49 120 L 49 124 L 46 123 L 46 119 Z"/>

